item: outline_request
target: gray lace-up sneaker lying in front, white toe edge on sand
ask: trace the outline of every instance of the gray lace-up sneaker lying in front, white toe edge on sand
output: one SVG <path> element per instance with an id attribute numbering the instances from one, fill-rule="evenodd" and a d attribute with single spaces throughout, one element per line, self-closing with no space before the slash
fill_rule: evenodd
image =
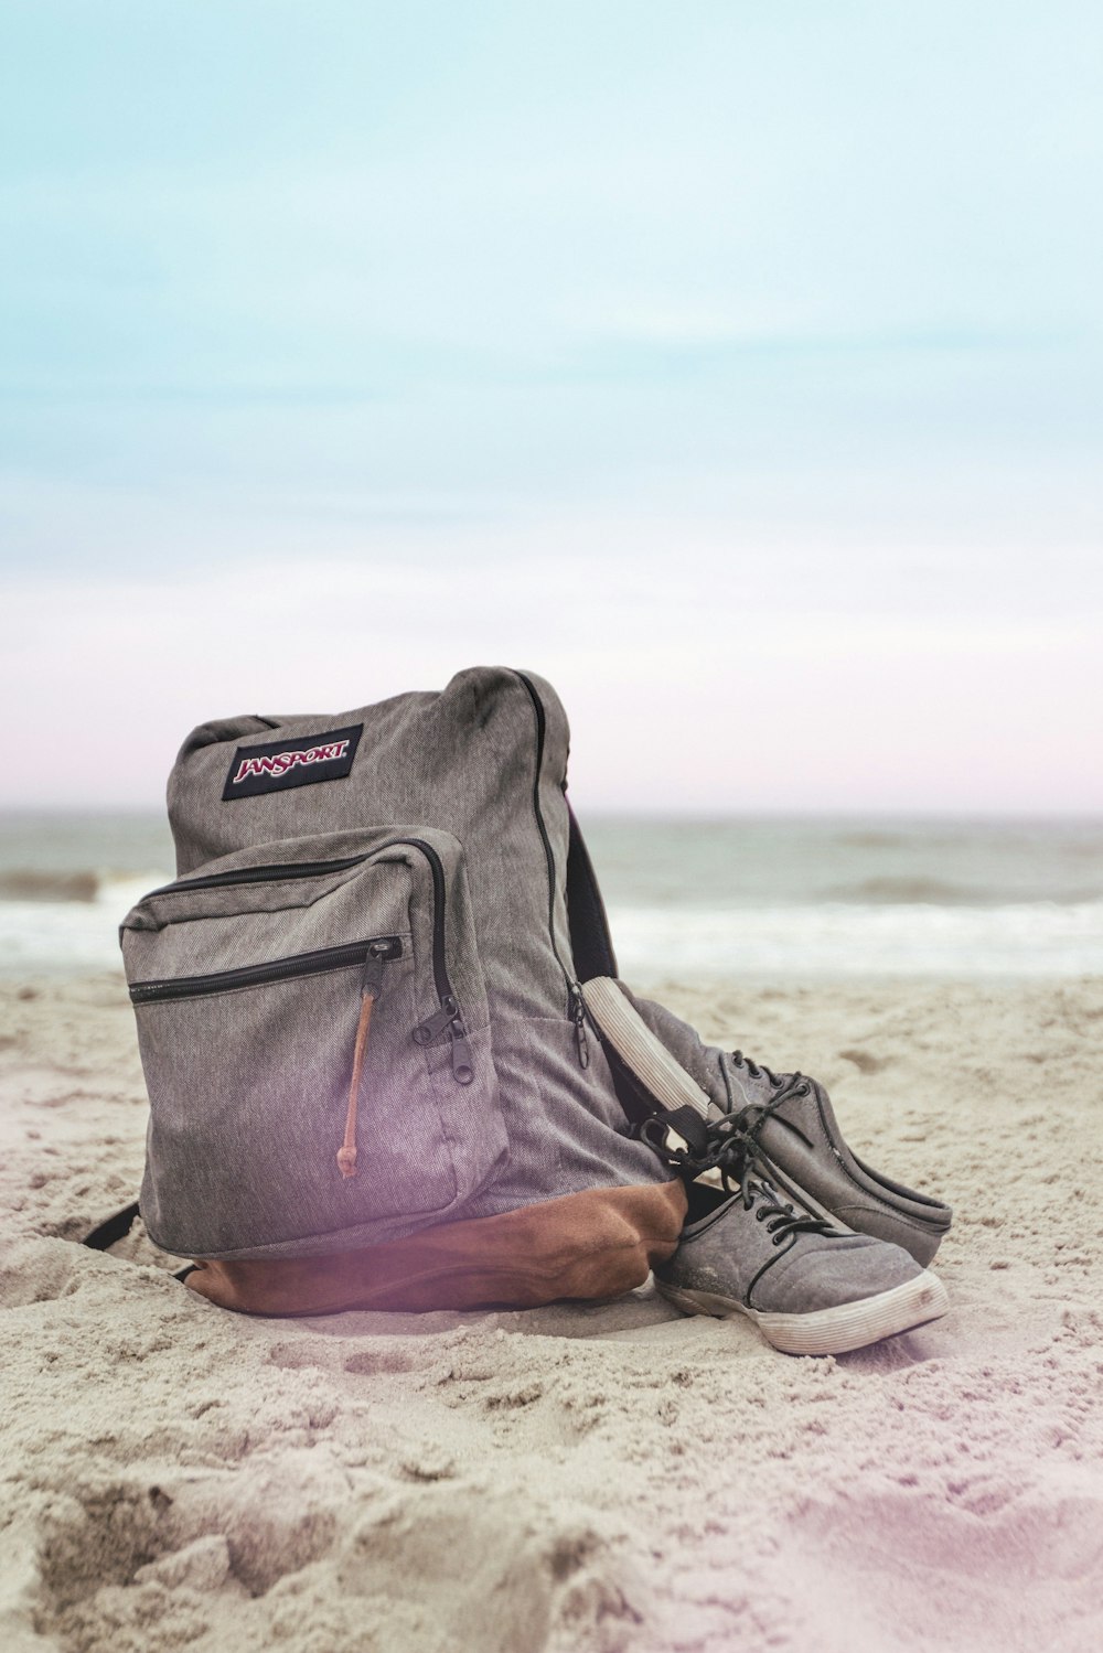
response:
<path id="1" fill-rule="evenodd" d="M 686 1314 L 746 1314 L 785 1354 L 843 1354 L 946 1314 L 936 1274 L 901 1246 L 832 1227 L 785 1198 L 726 1121 L 713 1127 L 713 1160 L 738 1192 L 681 1230 L 675 1255 L 655 1270 L 658 1289 Z M 731 1182 L 729 1182 L 731 1185 Z"/>

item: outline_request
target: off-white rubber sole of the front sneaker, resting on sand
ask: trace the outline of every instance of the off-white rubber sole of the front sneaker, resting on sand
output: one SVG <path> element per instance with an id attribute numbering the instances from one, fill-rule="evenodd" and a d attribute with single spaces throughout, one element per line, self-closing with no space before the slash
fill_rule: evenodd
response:
<path id="1" fill-rule="evenodd" d="M 946 1286 L 929 1270 L 876 1298 L 860 1298 L 857 1303 L 840 1303 L 833 1309 L 814 1309 L 810 1314 L 769 1314 L 764 1309 L 747 1309 L 736 1298 L 721 1298 L 714 1291 L 683 1291 L 658 1278 L 655 1284 L 685 1314 L 714 1314 L 718 1319 L 746 1314 L 782 1354 L 847 1354 L 848 1349 L 865 1349 L 881 1337 L 895 1337 L 938 1321 L 949 1309 Z"/>

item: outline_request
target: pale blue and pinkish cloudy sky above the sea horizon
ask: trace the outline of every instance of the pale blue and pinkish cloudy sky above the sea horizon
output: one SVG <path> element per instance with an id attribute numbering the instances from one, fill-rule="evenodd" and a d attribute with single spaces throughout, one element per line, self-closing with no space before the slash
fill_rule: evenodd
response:
<path id="1" fill-rule="evenodd" d="M 579 808 L 1103 813 L 1103 10 L 5 0 L 7 805 L 542 673 Z"/>

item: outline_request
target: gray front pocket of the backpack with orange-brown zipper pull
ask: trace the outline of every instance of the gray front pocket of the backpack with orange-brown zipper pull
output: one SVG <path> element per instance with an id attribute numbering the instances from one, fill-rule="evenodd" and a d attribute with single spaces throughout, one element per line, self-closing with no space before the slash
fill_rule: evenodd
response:
<path id="1" fill-rule="evenodd" d="M 150 1099 L 141 1208 L 165 1250 L 397 1238 L 458 1210 L 504 1155 L 448 833 L 327 833 L 207 863 L 127 914 L 122 952 Z"/>

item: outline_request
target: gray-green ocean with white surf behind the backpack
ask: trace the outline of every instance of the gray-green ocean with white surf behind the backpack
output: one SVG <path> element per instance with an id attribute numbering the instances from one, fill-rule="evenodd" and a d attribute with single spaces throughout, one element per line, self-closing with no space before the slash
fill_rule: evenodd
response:
<path id="1" fill-rule="evenodd" d="M 1103 822 L 584 820 L 620 974 L 1103 974 Z M 172 878 L 157 815 L 0 815 L 0 970 L 119 969 Z"/>

